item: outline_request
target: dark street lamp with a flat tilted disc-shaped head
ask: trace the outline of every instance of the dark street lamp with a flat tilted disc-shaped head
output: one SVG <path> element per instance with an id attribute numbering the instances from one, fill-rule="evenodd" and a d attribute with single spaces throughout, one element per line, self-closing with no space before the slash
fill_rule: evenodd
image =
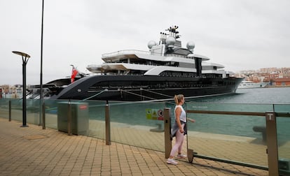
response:
<path id="1" fill-rule="evenodd" d="M 29 59 L 29 54 L 25 52 L 13 51 L 14 54 L 22 56 L 22 126 L 27 127 L 26 124 L 26 64 Z"/>

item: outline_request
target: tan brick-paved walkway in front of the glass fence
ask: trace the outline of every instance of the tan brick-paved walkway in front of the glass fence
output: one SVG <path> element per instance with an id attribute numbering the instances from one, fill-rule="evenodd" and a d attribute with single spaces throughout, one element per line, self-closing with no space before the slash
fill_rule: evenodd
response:
<path id="1" fill-rule="evenodd" d="M 21 125 L 0 118 L 0 175 L 268 175 L 196 158 L 168 165 L 163 152 Z"/>

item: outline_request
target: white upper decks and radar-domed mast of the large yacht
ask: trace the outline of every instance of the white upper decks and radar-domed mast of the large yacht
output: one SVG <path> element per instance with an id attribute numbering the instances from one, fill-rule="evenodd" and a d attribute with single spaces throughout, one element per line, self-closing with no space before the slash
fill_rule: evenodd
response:
<path id="1" fill-rule="evenodd" d="M 167 29 L 170 34 L 160 33 L 160 41 L 149 41 L 149 51 L 121 50 L 102 54 L 104 64 L 89 65 L 88 71 L 104 75 L 167 75 L 181 74 L 201 76 L 201 74 L 226 77 L 221 64 L 209 63 L 208 57 L 193 54 L 195 44 L 188 42 L 181 47 L 178 27 Z M 201 65 L 201 68 L 200 68 Z"/>

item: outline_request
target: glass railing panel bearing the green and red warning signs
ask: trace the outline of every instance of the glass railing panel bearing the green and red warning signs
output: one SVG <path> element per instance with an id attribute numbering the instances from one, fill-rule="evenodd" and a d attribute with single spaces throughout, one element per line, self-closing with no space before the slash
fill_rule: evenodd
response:
<path id="1" fill-rule="evenodd" d="M 164 103 L 110 103 L 111 141 L 164 152 Z"/>

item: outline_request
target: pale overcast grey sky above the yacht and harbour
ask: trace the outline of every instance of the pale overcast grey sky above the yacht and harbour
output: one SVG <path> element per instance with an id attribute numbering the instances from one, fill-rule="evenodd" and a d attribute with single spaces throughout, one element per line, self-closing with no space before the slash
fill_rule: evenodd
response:
<path id="1" fill-rule="evenodd" d="M 184 47 L 239 72 L 290 67 L 289 0 L 44 0 L 43 84 L 71 75 L 71 66 L 102 64 L 102 54 L 148 51 L 160 32 L 179 26 Z M 41 0 L 0 0 L 0 85 L 27 85 L 41 73 Z"/>

